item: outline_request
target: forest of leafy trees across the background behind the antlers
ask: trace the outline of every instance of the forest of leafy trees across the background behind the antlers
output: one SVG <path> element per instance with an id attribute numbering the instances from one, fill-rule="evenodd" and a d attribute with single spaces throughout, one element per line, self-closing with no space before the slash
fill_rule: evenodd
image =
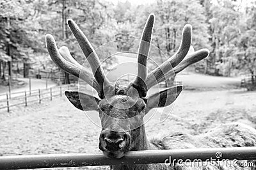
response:
<path id="1" fill-rule="evenodd" d="M 246 0 L 156 0 L 153 4 L 113 3 L 106 0 L 1 0 L 0 1 L 0 83 L 13 72 L 56 68 L 45 48 L 51 33 L 60 47 L 68 46 L 72 56 L 84 62 L 74 36 L 67 26 L 73 19 L 97 49 L 108 42 L 102 55 L 135 51 L 149 13 L 156 15 L 152 45 L 165 56 L 179 48 L 182 28 L 193 26 L 194 49 L 207 48 L 210 55 L 194 65 L 196 72 L 234 77 L 256 74 L 256 1 Z M 163 62 L 153 51 L 152 58 Z M 102 56 L 99 55 L 99 56 Z M 104 65 L 113 64 L 113 60 Z M 34 70 L 34 71 L 33 71 Z M 66 75 L 68 79 L 68 75 Z M 68 80 L 65 81 L 68 83 Z M 6 84 L 6 83 L 5 83 Z"/>

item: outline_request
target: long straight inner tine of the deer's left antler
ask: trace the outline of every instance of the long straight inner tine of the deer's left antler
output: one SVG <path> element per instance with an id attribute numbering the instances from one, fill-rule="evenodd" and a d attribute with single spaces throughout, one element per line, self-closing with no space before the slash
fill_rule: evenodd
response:
<path id="1" fill-rule="evenodd" d="M 99 83 L 100 89 L 103 89 L 103 83 L 110 84 L 102 66 L 100 66 L 100 60 L 97 56 L 95 50 L 93 49 L 91 43 L 88 41 L 84 33 L 77 26 L 77 24 L 72 19 L 67 20 L 68 26 L 72 31 L 73 35 L 76 37 L 77 42 L 79 43 L 81 49 L 83 50 L 88 63 L 92 68 L 92 72 L 94 73 L 94 77 L 96 81 Z M 89 57 L 90 56 L 90 57 Z M 105 81 L 105 82 L 104 82 Z"/>

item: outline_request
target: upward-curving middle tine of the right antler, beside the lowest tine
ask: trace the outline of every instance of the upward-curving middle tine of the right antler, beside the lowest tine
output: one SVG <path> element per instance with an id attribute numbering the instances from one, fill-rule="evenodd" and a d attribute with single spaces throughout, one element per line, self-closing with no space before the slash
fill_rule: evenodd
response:
<path id="1" fill-rule="evenodd" d="M 186 54 L 188 54 L 189 47 L 192 42 L 192 27 L 190 24 L 186 24 L 182 31 L 182 40 L 180 42 L 180 47 L 177 52 L 167 61 L 165 61 L 162 65 L 153 70 L 146 79 L 147 88 L 150 89 L 152 86 L 161 82 L 161 80 L 166 73 L 170 71 L 170 69 L 179 65 L 180 61 L 185 58 Z M 172 65 L 172 66 L 170 66 Z"/>

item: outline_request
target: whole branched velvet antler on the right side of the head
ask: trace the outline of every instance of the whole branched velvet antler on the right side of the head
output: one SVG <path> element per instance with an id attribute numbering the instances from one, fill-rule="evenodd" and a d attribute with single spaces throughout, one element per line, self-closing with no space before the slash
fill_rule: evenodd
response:
<path id="1" fill-rule="evenodd" d="M 147 43 L 140 43 L 138 55 L 138 76 L 131 84 L 133 88 L 136 88 L 138 90 L 140 97 L 145 97 L 147 95 L 148 89 L 152 88 L 152 86 L 164 81 L 165 79 L 168 79 L 173 74 L 179 73 L 187 66 L 209 56 L 209 50 L 207 49 L 197 50 L 196 52 L 188 54 L 192 42 L 192 27 L 191 25 L 186 24 L 182 31 L 182 40 L 180 42 L 180 47 L 177 52 L 170 59 L 165 61 L 162 65 L 157 67 L 147 76 L 147 55 L 150 47 L 153 25 L 154 15 L 151 14 L 148 17 L 147 23 L 143 30 L 143 36 L 141 38 L 141 42 L 145 41 Z M 186 56 L 187 58 L 182 61 Z"/>

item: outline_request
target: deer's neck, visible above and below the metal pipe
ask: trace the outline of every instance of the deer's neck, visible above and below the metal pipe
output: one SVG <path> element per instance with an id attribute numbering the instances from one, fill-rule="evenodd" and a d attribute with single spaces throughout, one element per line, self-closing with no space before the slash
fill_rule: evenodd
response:
<path id="1" fill-rule="evenodd" d="M 132 151 L 139 151 L 139 150 L 150 150 L 150 144 L 148 142 L 146 133 L 145 133 L 145 127 L 142 125 L 140 127 L 140 130 L 138 130 L 139 134 L 136 134 L 134 137 L 134 146 L 132 148 Z M 149 169 L 148 164 L 140 164 L 140 165 L 115 165 L 110 166 L 113 170 L 126 170 L 126 169 L 134 169 L 134 170 L 146 170 Z"/>

